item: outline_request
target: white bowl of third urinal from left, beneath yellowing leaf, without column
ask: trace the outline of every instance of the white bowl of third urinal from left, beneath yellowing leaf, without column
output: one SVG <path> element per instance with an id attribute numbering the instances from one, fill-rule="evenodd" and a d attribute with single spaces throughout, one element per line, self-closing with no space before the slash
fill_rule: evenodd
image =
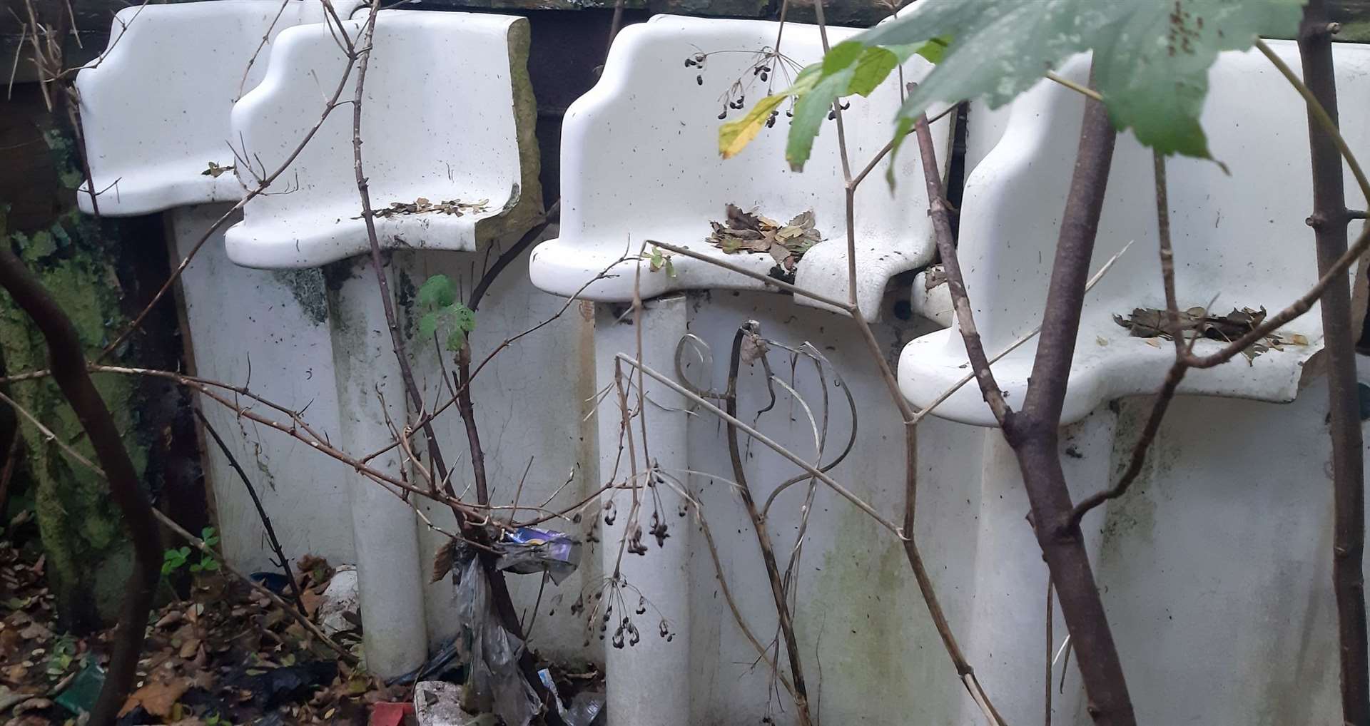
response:
<path id="1" fill-rule="evenodd" d="M 737 204 L 781 222 L 812 211 L 823 241 L 797 263 L 793 282 L 848 297 L 844 175 L 834 122 L 825 122 L 801 173 L 785 162 L 788 104 L 741 153 L 725 160 L 718 152 L 721 112 L 740 118 L 767 90 L 786 88 L 800 67 L 822 58 L 817 26 L 786 23 L 782 51 L 793 63 L 770 63 L 763 79 L 758 64 L 763 48 L 774 45 L 777 29 L 774 22 L 673 15 L 623 29 L 599 84 L 566 114 L 560 237 L 534 251 L 534 285 L 601 301 L 632 300 L 634 286 L 644 299 L 685 289 L 760 289 L 756 279 L 684 256 L 671 260 L 674 274 L 643 264 L 638 279 L 632 262 L 619 262 L 600 277 L 615 260 L 636 258 L 648 241 L 770 273 L 775 267 L 770 255 L 727 255 L 706 242 L 710 222 L 722 221 L 725 207 Z M 833 27 L 829 40 L 836 44 L 856 32 Z M 686 63 L 699 53 L 703 64 Z M 930 68 L 914 56 L 903 75 L 912 81 Z M 895 133 L 900 96 L 893 78 L 844 111 L 854 174 Z M 741 101 L 741 108 L 727 108 L 729 101 Z M 947 160 L 949 132 L 948 121 L 933 126 L 940 163 Z M 895 159 L 897 196 L 882 178 L 888 164 L 881 162 L 856 192 L 856 299 L 869 315 L 880 310 L 889 279 L 927 264 L 934 249 L 918 149 L 907 144 Z"/>

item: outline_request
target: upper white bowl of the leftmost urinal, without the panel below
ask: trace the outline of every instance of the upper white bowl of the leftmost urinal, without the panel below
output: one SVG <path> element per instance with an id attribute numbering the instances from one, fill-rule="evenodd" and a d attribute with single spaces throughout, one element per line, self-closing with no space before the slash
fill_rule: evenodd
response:
<path id="1" fill-rule="evenodd" d="M 358 1 L 333 5 L 347 16 Z M 275 38 L 286 27 L 321 23 L 323 14 L 316 0 L 292 0 L 284 10 L 278 0 L 121 10 L 103 59 L 77 74 L 100 214 L 136 215 L 242 199 L 233 174 L 204 171 L 210 162 L 233 164 L 229 111 L 240 93 L 262 79 L 270 42 L 255 62 L 253 53 L 263 36 Z M 327 38 L 323 25 L 300 33 Z M 93 211 L 88 193 L 77 197 L 81 211 Z"/>

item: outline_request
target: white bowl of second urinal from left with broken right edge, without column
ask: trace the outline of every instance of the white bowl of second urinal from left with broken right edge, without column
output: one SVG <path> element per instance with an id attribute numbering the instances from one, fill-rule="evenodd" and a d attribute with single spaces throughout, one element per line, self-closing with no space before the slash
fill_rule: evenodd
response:
<path id="1" fill-rule="evenodd" d="M 359 40 L 363 18 L 344 21 Z M 527 19 L 382 11 L 362 100 L 363 168 L 386 249 L 474 251 L 521 233 L 541 211 Z M 244 185 L 285 164 L 347 73 L 344 49 L 315 27 L 289 29 L 262 82 L 233 107 Z M 353 97 L 355 71 L 344 101 Z M 370 248 L 353 167 L 352 107 L 327 114 L 270 195 L 226 234 L 249 267 L 318 267 Z M 275 188 L 279 189 L 275 189 Z"/>

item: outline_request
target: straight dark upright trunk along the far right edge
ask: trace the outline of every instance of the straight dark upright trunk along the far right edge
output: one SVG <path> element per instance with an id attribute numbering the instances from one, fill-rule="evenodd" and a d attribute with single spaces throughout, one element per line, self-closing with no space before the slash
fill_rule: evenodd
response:
<path id="1" fill-rule="evenodd" d="M 1267 48 L 1262 48 L 1267 52 Z M 1273 53 L 1267 53 L 1273 55 Z M 1318 271 L 1326 273 L 1347 253 L 1347 205 L 1341 155 L 1356 181 L 1365 173 L 1337 129 L 1337 78 L 1332 58 L 1325 0 L 1310 0 L 1299 29 L 1308 148 L 1312 162 L 1312 215 Z M 1278 56 L 1275 56 L 1278 58 Z M 1323 348 L 1328 353 L 1328 396 L 1332 418 L 1332 584 L 1337 600 L 1337 641 L 1341 652 L 1341 721 L 1370 723 L 1370 663 L 1366 653 L 1365 574 L 1365 448 L 1356 381 L 1356 331 L 1351 329 L 1351 290 L 1345 278 L 1322 296 Z"/>

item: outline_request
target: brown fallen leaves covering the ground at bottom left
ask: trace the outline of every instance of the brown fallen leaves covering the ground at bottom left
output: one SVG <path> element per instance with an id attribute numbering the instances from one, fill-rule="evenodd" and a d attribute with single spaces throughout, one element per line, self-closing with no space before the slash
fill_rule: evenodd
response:
<path id="1" fill-rule="evenodd" d="M 5 537 L 27 534 L 23 545 L 14 544 L 19 537 L 0 537 L 0 601 L 5 605 L 0 723 L 75 725 L 64 704 L 89 708 L 93 703 L 112 629 L 90 637 L 60 631 L 34 529 L 7 529 Z M 316 558 L 299 564 L 301 601 L 315 616 L 333 570 Z M 358 637 L 352 629 L 334 640 L 349 644 Z M 118 721 L 122 726 L 364 726 L 370 704 L 410 696 L 404 686 L 386 688 L 338 662 L 264 594 L 222 573 L 196 574 L 188 599 L 153 612 L 134 686 Z"/>

